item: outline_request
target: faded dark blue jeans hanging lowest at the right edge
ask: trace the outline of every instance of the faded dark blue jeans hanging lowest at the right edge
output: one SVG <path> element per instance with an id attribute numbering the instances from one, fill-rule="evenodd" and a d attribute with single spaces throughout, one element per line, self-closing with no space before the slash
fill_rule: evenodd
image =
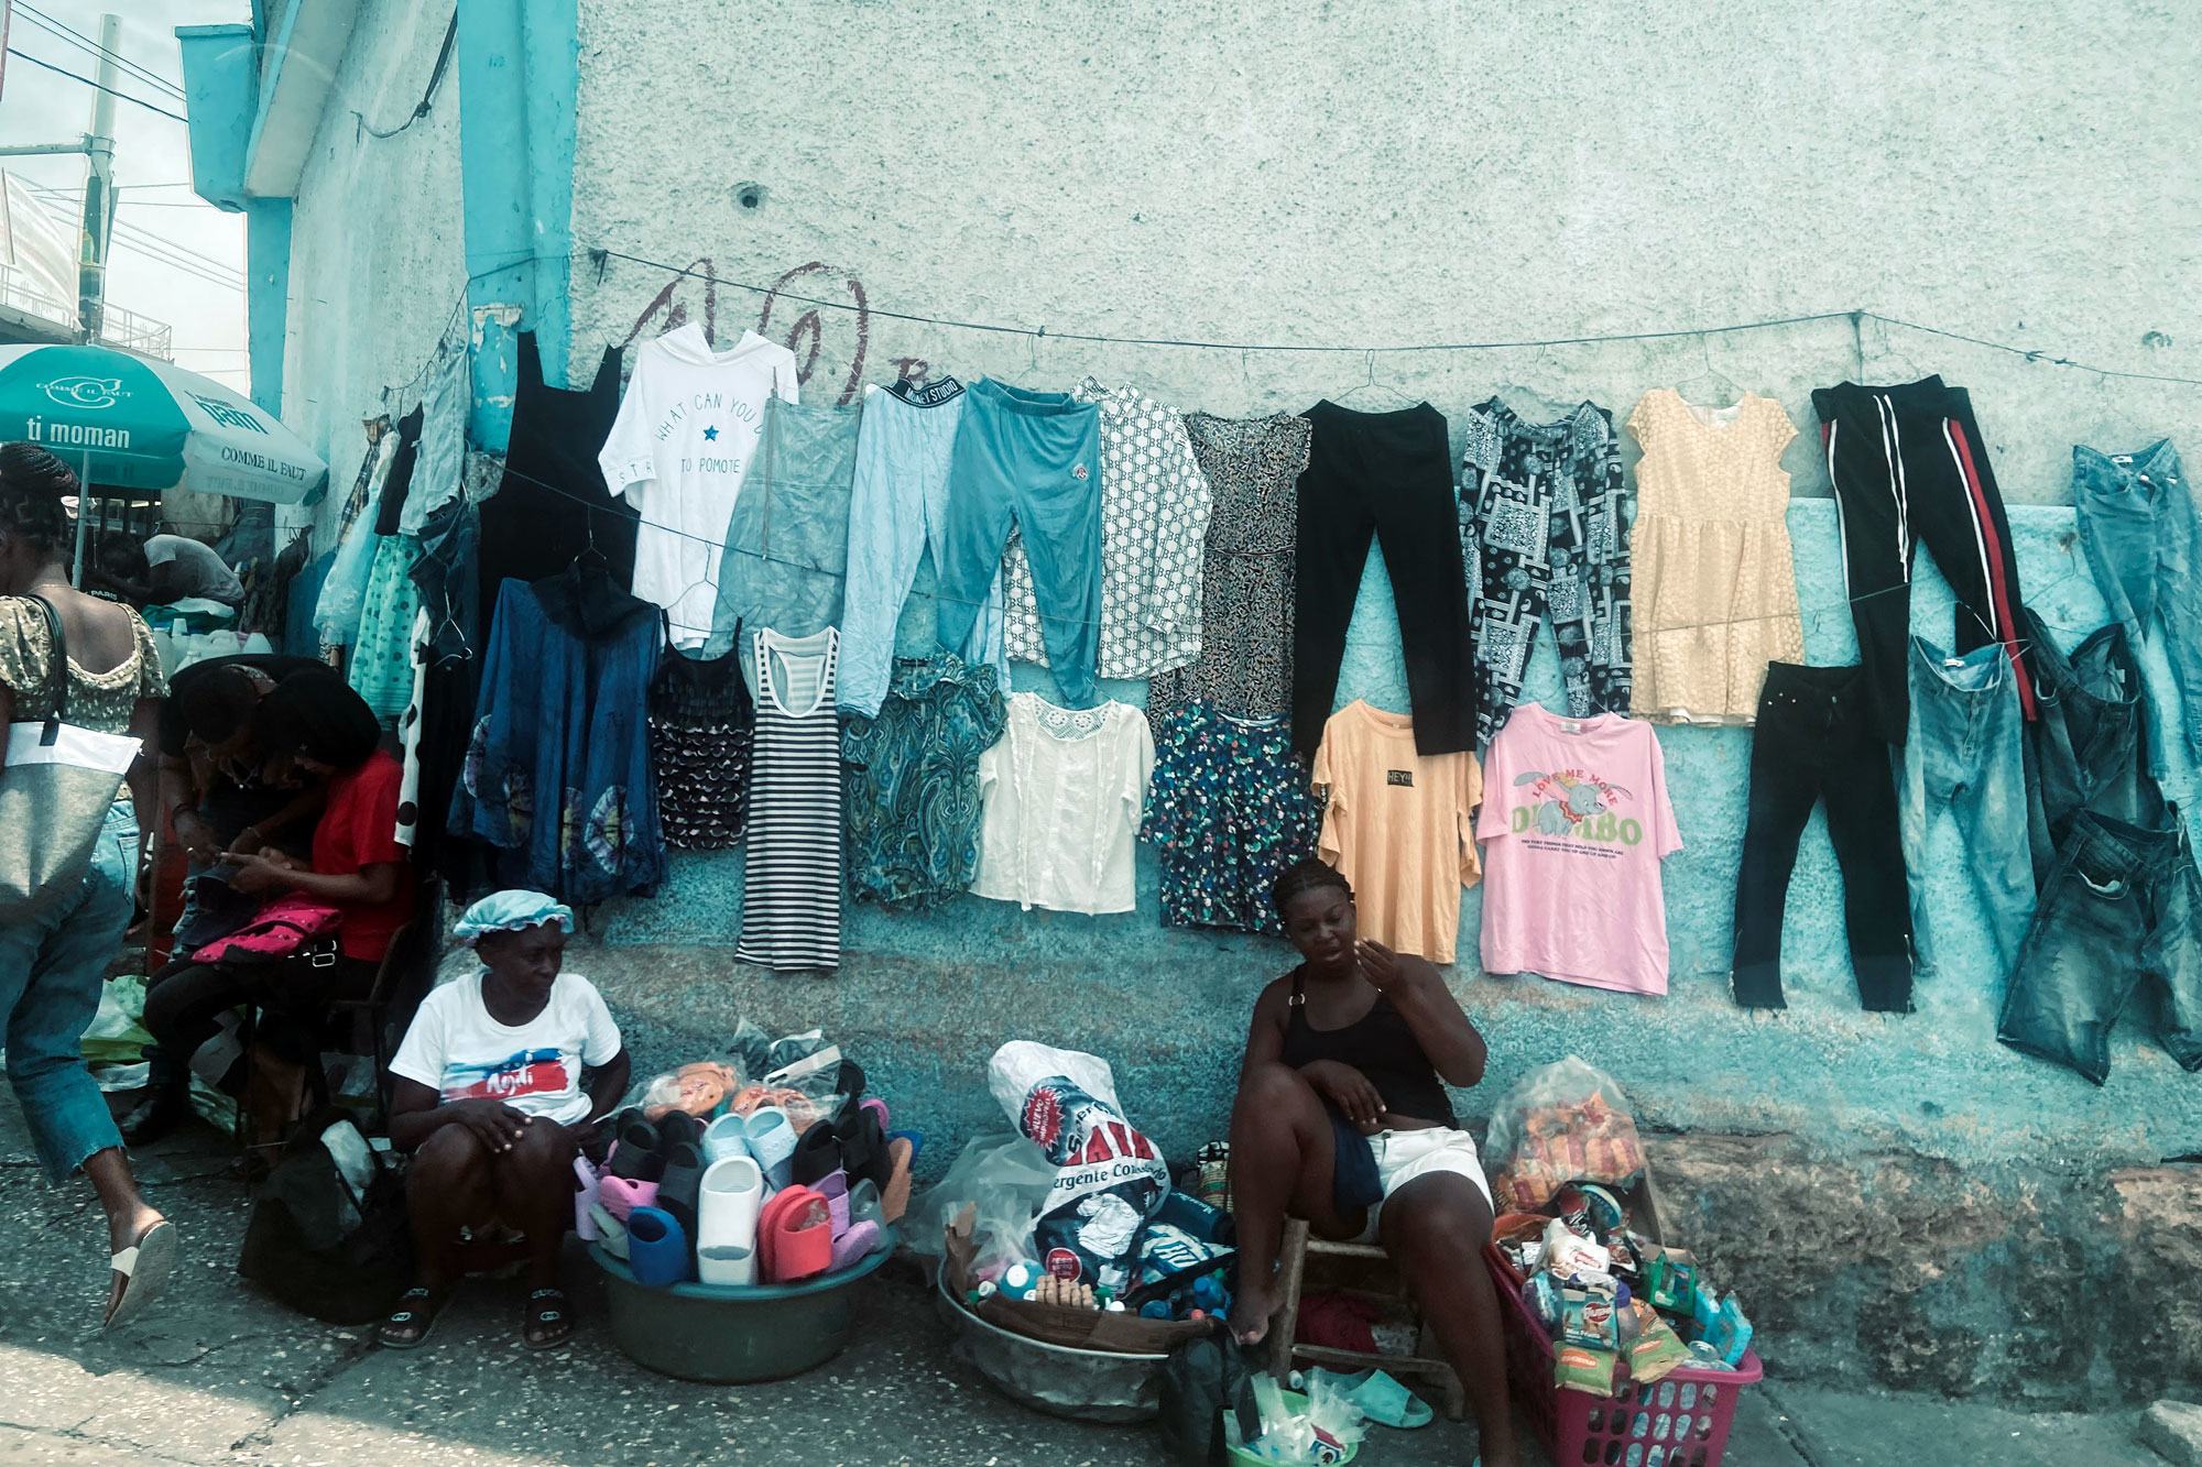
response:
<path id="1" fill-rule="evenodd" d="M 2202 874 L 2184 824 L 2143 830 L 2081 811 L 2041 888 L 1995 1037 L 2103 1084 L 2110 1031 L 2145 987 L 2165 1051 L 2202 1071 L 2198 921 Z"/>

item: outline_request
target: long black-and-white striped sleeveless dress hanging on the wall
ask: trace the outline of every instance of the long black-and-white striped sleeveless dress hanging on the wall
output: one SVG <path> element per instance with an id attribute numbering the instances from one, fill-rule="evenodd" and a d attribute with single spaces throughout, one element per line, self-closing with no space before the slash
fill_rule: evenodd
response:
<path id="1" fill-rule="evenodd" d="M 841 967 L 841 632 L 760 630 L 749 874 L 733 956 L 771 969 Z"/>

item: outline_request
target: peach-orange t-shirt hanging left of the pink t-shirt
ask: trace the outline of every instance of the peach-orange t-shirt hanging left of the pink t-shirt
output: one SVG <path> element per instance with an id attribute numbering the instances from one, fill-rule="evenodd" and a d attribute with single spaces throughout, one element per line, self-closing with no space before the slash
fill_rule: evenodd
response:
<path id="1" fill-rule="evenodd" d="M 1330 791 L 1317 850 L 1354 883 L 1361 936 L 1451 963 L 1460 888 L 1475 885 L 1473 753 L 1416 753 L 1414 720 L 1348 703 L 1323 725 L 1315 789 Z"/>

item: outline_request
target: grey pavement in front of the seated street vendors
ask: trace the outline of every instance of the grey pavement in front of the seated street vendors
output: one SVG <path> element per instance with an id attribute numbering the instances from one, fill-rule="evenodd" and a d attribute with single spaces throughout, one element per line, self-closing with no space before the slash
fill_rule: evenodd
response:
<path id="1" fill-rule="evenodd" d="M 1160 1463 L 1145 1427 L 1028 1412 L 949 1359 L 916 1275 L 868 1284 L 861 1341 L 824 1370 L 740 1390 L 667 1381 L 621 1357 L 601 1289 L 575 1258 L 581 1333 L 520 1348 L 517 1284 L 469 1286 L 407 1355 L 291 1315 L 236 1275 L 247 1196 L 231 1152 L 194 1130 L 139 1161 L 185 1234 L 172 1295 L 141 1326 L 97 1328 L 103 1227 L 88 1187 L 46 1187 L 13 1099 L 0 1101 L 0 1460 L 9 1463 Z M 1746 1394 L 1731 1467 L 2158 1465 L 2138 1412 L 2024 1416 L 1927 1397 L 1768 1381 Z M 1473 1460 L 1475 1432 L 1436 1423 L 1363 1447 L 1372 1467 Z"/>

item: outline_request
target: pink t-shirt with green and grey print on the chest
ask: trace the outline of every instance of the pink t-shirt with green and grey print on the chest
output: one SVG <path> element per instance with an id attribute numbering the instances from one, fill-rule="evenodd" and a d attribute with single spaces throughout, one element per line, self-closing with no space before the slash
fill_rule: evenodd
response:
<path id="1" fill-rule="evenodd" d="M 1667 991 L 1660 861 L 1682 848 L 1652 725 L 1524 703 L 1484 758 L 1486 974 Z"/>

